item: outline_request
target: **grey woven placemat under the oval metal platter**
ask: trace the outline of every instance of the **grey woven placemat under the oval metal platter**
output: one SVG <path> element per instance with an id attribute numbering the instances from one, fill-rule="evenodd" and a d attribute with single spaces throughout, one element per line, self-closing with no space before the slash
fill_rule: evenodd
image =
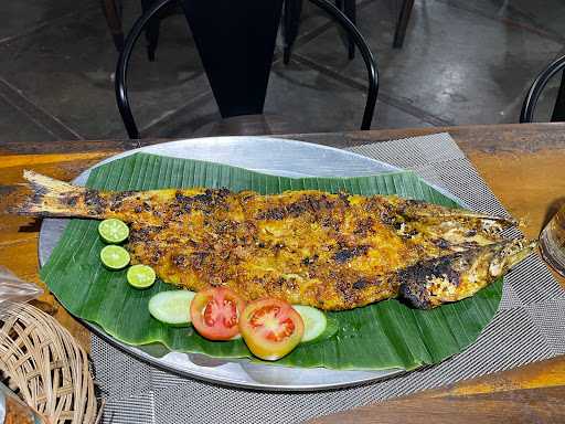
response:
<path id="1" fill-rule="evenodd" d="M 416 171 L 477 211 L 508 215 L 448 134 L 351 151 Z M 514 230 L 514 233 L 518 233 Z M 500 309 L 475 344 L 437 364 L 353 389 L 266 393 L 185 379 L 92 340 L 104 423 L 294 423 L 565 353 L 565 292 L 531 255 L 504 280 Z"/>

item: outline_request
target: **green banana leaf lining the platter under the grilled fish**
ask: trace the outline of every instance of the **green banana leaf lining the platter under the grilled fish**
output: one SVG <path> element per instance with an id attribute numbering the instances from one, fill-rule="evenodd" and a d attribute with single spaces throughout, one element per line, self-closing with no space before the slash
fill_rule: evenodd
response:
<path id="1" fill-rule="evenodd" d="M 246 169 L 153 155 L 137 153 L 92 171 L 87 186 L 111 190 L 226 187 L 238 191 L 278 193 L 319 189 L 358 194 L 399 194 L 448 206 L 449 198 L 413 172 L 402 171 L 358 178 L 284 178 Z M 159 342 L 177 351 L 217 358 L 252 357 L 242 340 L 213 342 L 192 327 L 168 327 L 149 315 L 156 293 L 173 287 L 157 282 L 150 289 L 131 288 L 125 271 L 110 272 L 98 258 L 104 246 L 98 222 L 74 219 L 66 227 L 41 276 L 73 315 L 102 327 L 129 344 Z M 300 344 L 277 363 L 292 367 L 412 370 L 437 363 L 471 344 L 495 314 L 502 279 L 476 296 L 434 310 L 416 310 L 392 299 L 348 311 L 329 312 L 337 325 L 333 336 Z"/>

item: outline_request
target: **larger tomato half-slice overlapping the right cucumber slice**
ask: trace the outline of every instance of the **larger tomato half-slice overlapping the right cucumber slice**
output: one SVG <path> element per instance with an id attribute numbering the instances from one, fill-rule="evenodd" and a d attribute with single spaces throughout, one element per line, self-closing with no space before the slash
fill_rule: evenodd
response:
<path id="1" fill-rule="evenodd" d="M 245 307 L 239 317 L 239 330 L 253 354 L 275 361 L 296 348 L 302 339 L 305 325 L 290 304 L 269 298 Z"/>

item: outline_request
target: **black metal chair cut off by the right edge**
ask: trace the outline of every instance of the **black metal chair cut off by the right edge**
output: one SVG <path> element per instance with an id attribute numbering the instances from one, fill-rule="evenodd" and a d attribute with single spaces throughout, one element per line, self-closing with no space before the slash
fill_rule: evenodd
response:
<path id="1" fill-rule="evenodd" d="M 565 121 L 565 56 L 562 56 L 553 61 L 543 72 L 537 75 L 534 83 L 527 91 L 524 103 L 522 105 L 522 112 L 520 113 L 520 123 L 532 123 L 534 119 L 535 107 L 537 100 L 542 95 L 543 89 L 550 82 L 550 80 L 557 73 L 562 73 L 559 91 L 557 98 L 553 107 L 551 121 Z"/>

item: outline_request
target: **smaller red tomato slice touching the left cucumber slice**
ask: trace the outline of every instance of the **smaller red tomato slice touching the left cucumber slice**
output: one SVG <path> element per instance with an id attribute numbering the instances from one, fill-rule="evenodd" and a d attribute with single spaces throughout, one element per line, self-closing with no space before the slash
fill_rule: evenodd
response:
<path id="1" fill-rule="evenodd" d="M 239 333 L 239 316 L 245 303 L 225 287 L 196 293 L 190 305 L 192 325 L 209 340 L 230 340 Z"/>

